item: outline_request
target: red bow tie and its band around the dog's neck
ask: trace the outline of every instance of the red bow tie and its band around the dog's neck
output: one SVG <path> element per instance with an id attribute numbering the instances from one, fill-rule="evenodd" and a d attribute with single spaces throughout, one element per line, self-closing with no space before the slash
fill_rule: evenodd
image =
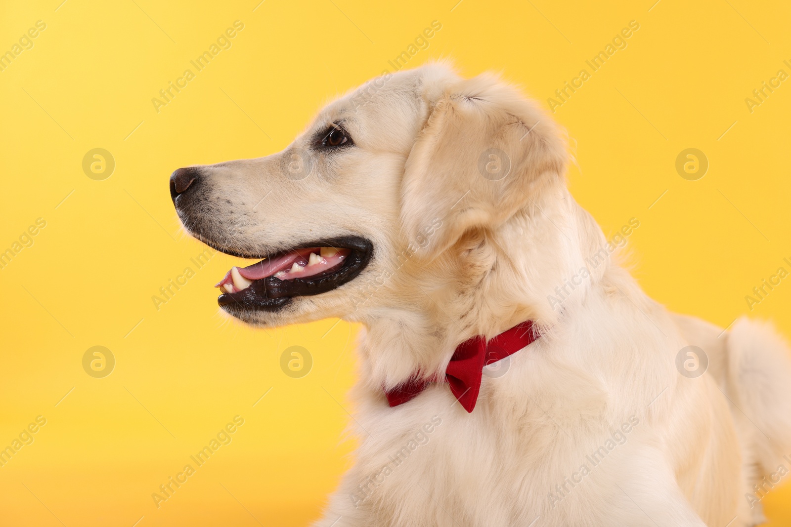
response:
<path id="1" fill-rule="evenodd" d="M 531 320 L 513 326 L 488 342 L 481 335 L 472 337 L 456 346 L 456 352 L 445 369 L 444 380 L 464 409 L 472 412 L 481 389 L 483 367 L 518 352 L 538 337 Z M 430 382 L 437 382 L 437 379 L 415 376 L 384 394 L 390 406 L 402 405 L 418 397 Z"/>

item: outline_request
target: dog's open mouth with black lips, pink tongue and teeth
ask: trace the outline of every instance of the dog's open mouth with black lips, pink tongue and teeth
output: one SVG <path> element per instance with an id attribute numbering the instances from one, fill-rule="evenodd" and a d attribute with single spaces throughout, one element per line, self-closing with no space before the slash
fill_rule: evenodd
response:
<path id="1" fill-rule="evenodd" d="M 277 310 L 295 296 L 320 295 L 354 280 L 368 264 L 373 245 L 350 236 L 296 247 L 233 267 L 215 286 L 221 307 Z"/>

